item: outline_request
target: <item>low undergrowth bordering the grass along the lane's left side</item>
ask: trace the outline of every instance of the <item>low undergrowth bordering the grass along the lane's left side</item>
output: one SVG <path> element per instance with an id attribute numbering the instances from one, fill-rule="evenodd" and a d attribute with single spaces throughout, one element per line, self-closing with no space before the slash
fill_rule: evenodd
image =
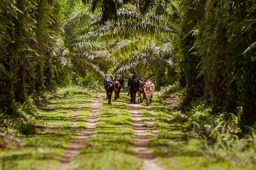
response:
<path id="1" fill-rule="evenodd" d="M 22 146 L 20 136 L 37 134 L 42 127 L 38 111 L 47 107 L 52 99 L 67 98 L 75 94 L 86 95 L 88 91 L 88 88 L 74 85 L 32 94 L 23 104 L 13 101 L 8 109 L 0 110 L 0 148 L 18 149 Z"/>

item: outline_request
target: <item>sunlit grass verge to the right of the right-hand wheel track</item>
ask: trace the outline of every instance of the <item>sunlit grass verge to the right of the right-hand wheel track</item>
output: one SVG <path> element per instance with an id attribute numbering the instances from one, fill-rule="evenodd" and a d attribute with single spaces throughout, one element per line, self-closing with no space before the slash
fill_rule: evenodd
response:
<path id="1" fill-rule="evenodd" d="M 236 149 L 242 142 L 230 141 L 230 147 L 224 147 L 222 142 L 211 144 L 191 138 L 186 114 L 177 107 L 166 107 L 160 96 L 154 96 L 151 110 L 158 116 L 154 121 L 158 136 L 149 145 L 157 162 L 166 170 L 255 169 L 255 151 Z"/>

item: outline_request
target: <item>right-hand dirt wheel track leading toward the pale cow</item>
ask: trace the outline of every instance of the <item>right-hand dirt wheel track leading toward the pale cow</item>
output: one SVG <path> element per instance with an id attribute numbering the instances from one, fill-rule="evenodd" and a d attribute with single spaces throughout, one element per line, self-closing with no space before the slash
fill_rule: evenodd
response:
<path id="1" fill-rule="evenodd" d="M 143 169 L 163 170 L 163 168 L 159 167 L 159 165 L 157 165 L 155 160 L 152 158 L 151 152 L 148 147 L 149 138 L 157 136 L 157 132 L 153 130 L 153 122 L 154 119 L 156 119 L 156 116 L 153 116 L 153 118 L 149 119 L 148 122 L 143 122 L 143 116 L 138 112 L 138 110 L 143 108 L 149 111 L 150 107 L 128 103 L 127 108 L 132 117 L 132 125 L 134 132 L 134 152 L 137 154 L 138 158 L 140 158 L 143 161 Z M 148 135 L 145 132 L 145 130 L 150 130 L 153 133 L 153 136 Z"/>

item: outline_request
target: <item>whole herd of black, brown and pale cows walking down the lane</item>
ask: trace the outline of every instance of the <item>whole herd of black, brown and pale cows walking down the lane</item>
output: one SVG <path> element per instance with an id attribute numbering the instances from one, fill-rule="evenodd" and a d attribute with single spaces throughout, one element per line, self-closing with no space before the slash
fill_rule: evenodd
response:
<path id="1" fill-rule="evenodd" d="M 124 84 L 124 79 L 122 76 L 117 75 L 113 80 L 112 76 L 105 76 L 103 82 L 105 90 L 107 92 L 108 104 L 111 104 L 111 97 L 113 91 L 115 93 L 115 100 L 119 99 L 119 94 L 122 85 Z M 154 92 L 154 81 L 151 79 L 140 79 L 136 75 L 132 75 L 128 79 L 127 84 L 130 92 L 131 103 L 136 103 L 136 93 L 138 92 L 138 102 L 143 102 L 143 99 L 146 99 L 147 106 L 151 105 L 153 92 Z"/>

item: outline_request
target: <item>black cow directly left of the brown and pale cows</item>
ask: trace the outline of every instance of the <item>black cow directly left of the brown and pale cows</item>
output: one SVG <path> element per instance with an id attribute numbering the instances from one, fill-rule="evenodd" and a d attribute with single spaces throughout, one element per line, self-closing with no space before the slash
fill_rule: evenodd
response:
<path id="1" fill-rule="evenodd" d="M 136 93 L 137 90 L 139 90 L 140 88 L 140 81 L 138 79 L 138 77 L 136 75 L 132 75 L 131 77 L 129 77 L 128 79 L 128 88 L 130 89 L 130 92 L 128 93 L 127 96 L 129 96 L 129 94 L 131 95 L 131 103 L 135 102 L 136 100 Z"/>

